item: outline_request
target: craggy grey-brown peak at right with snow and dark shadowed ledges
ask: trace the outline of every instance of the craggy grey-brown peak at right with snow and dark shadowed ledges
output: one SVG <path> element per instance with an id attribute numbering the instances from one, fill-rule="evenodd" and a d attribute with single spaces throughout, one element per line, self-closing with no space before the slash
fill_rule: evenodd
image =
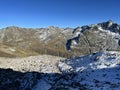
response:
<path id="1" fill-rule="evenodd" d="M 76 32 L 75 32 L 76 31 Z M 69 39 L 69 50 L 92 53 L 101 50 L 119 51 L 120 26 L 112 21 L 82 26 L 74 29 L 74 37 Z"/>

